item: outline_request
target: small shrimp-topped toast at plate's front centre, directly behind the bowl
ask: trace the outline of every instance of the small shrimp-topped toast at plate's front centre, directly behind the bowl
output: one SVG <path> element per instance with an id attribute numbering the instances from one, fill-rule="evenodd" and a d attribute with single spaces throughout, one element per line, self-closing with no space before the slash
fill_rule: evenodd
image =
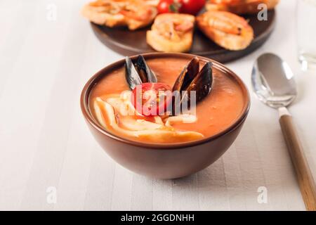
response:
<path id="1" fill-rule="evenodd" d="M 147 31 L 147 44 L 156 51 L 190 51 L 195 17 L 188 14 L 164 13 L 157 16 Z"/>

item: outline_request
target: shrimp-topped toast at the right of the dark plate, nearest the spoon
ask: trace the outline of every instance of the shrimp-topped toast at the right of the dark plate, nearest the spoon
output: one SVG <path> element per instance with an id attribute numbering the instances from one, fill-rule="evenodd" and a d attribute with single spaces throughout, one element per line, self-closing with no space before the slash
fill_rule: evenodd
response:
<path id="1" fill-rule="evenodd" d="M 207 11 L 197 16 L 197 26 L 216 44 L 231 51 L 246 49 L 254 39 L 254 30 L 246 20 L 229 12 Z"/>

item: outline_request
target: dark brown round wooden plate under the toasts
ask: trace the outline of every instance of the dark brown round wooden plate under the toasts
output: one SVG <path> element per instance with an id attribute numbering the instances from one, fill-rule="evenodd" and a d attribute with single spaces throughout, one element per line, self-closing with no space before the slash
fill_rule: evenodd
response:
<path id="1" fill-rule="evenodd" d="M 255 34 L 254 41 L 246 49 L 242 51 L 228 51 L 213 43 L 213 41 L 196 29 L 192 49 L 189 53 L 225 63 L 246 56 L 258 49 L 265 43 L 275 27 L 275 10 L 268 11 L 268 20 L 266 21 L 259 21 L 257 15 L 244 15 L 244 18 L 249 20 L 249 24 L 254 28 Z M 136 31 L 130 31 L 124 27 L 109 28 L 94 23 L 91 23 L 91 27 L 103 44 L 121 55 L 131 56 L 154 51 L 146 42 L 146 31 L 150 29 L 150 26 Z"/>

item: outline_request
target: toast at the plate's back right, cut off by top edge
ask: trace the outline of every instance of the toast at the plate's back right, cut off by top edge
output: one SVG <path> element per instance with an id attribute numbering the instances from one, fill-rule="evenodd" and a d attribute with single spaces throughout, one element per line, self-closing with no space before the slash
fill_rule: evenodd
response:
<path id="1" fill-rule="evenodd" d="M 260 4 L 265 4 L 268 10 L 275 8 L 279 0 L 246 0 L 246 1 L 232 1 L 227 3 L 225 1 L 210 0 L 206 4 L 206 9 L 217 11 L 228 11 L 235 14 L 254 14 L 261 11 L 263 8 L 258 7 Z"/>

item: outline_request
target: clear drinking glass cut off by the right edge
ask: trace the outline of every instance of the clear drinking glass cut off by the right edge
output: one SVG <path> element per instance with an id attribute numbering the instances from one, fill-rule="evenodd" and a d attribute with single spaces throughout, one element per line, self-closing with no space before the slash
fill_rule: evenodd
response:
<path id="1" fill-rule="evenodd" d="M 316 69 L 316 0 L 297 0 L 297 28 L 302 68 Z"/>

